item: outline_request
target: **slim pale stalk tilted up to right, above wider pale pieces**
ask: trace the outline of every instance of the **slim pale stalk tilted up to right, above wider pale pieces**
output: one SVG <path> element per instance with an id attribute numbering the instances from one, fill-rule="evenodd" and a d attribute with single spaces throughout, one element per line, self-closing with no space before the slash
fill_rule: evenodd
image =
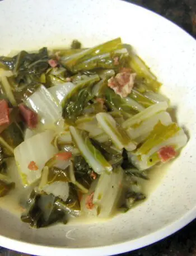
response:
<path id="1" fill-rule="evenodd" d="M 149 106 L 147 109 L 144 109 L 141 113 L 138 113 L 133 117 L 130 117 L 127 120 L 125 120 L 125 122 L 122 124 L 122 127 L 124 129 L 133 127 L 134 125 L 139 124 L 144 120 L 152 117 L 152 115 L 155 115 L 156 113 L 161 111 L 165 111 L 167 108 L 168 105 L 165 101 Z"/>

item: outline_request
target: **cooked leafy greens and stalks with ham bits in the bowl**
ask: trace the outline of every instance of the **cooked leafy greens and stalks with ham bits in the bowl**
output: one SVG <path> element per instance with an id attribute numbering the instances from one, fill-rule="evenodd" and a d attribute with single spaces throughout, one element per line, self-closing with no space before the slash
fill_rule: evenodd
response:
<path id="1" fill-rule="evenodd" d="M 0 67 L 0 196 L 14 195 L 31 227 L 128 211 L 149 170 L 186 145 L 161 83 L 120 38 L 22 51 Z"/>

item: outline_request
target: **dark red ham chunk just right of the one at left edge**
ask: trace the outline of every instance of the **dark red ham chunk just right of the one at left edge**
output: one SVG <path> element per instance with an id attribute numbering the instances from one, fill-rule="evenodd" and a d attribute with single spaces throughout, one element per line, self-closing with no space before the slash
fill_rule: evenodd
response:
<path id="1" fill-rule="evenodd" d="M 20 110 L 21 116 L 24 119 L 26 125 L 30 129 L 36 128 L 36 125 L 38 124 L 38 114 L 32 111 L 27 106 L 25 106 L 24 104 L 18 105 L 18 108 Z"/>

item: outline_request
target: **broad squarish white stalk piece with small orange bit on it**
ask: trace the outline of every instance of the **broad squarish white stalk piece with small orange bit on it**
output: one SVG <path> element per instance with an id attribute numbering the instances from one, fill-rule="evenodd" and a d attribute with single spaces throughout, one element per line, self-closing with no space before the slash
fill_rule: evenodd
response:
<path id="1" fill-rule="evenodd" d="M 41 177 L 41 170 L 45 162 L 58 152 L 52 145 L 54 138 L 53 131 L 45 131 L 32 136 L 18 145 L 14 150 L 18 173 L 24 186 L 34 183 Z M 28 168 L 31 161 L 34 161 L 38 170 Z"/>

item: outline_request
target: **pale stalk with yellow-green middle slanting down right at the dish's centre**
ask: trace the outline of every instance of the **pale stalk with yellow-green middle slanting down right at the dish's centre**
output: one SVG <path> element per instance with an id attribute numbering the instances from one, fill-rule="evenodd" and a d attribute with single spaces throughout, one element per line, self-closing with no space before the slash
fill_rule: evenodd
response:
<path id="1" fill-rule="evenodd" d="M 97 121 L 101 128 L 111 138 L 114 145 L 122 150 L 125 148 L 128 151 L 132 151 L 136 148 L 136 143 L 130 140 L 127 132 L 120 128 L 113 117 L 107 113 L 99 113 L 96 115 Z"/>

